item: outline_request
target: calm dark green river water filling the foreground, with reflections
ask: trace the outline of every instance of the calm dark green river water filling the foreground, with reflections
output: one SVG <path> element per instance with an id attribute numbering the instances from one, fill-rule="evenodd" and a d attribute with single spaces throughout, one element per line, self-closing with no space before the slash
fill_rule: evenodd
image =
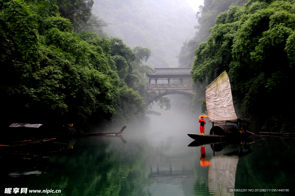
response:
<path id="1" fill-rule="evenodd" d="M 188 146 L 193 140 L 186 132 L 191 131 L 126 129 L 122 137 L 59 141 L 67 144 L 55 144 L 48 153 L 2 152 L 1 195 L 15 187 L 61 190 L 49 195 L 291 195 L 248 189 L 294 190 L 294 139 L 255 141 L 260 138 L 254 136 L 251 144 L 201 147 Z"/>

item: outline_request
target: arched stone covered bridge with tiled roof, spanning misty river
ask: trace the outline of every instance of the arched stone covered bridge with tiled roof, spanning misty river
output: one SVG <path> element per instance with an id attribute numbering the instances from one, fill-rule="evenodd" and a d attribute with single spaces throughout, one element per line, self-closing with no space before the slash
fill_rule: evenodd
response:
<path id="1" fill-rule="evenodd" d="M 145 85 L 148 93 L 155 93 L 155 97 L 147 103 L 148 105 L 165 95 L 182 94 L 190 97 L 194 96 L 191 83 L 183 83 L 183 80 L 191 79 L 191 67 L 154 69 L 154 72 L 147 74 L 149 84 Z M 155 80 L 155 84 L 151 84 L 151 80 Z M 158 84 L 158 80 L 168 80 L 168 83 Z M 180 84 L 171 84 L 170 80 L 180 80 Z"/>

